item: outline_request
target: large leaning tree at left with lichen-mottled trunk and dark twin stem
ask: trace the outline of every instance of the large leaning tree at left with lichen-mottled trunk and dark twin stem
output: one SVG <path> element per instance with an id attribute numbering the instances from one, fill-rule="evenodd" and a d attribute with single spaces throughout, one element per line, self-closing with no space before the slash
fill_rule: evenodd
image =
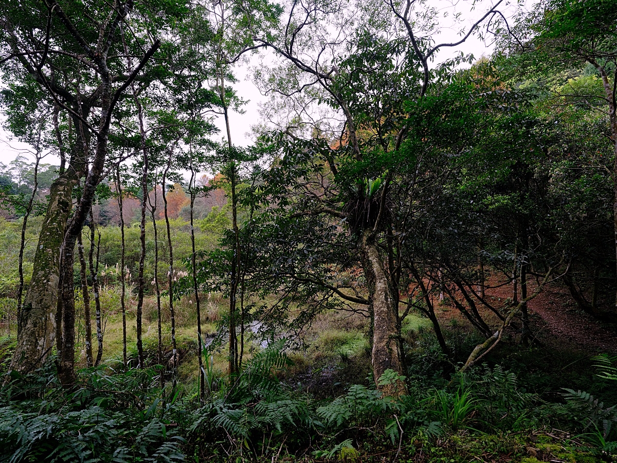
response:
<path id="1" fill-rule="evenodd" d="M 144 75 L 144 67 L 160 47 L 160 41 L 149 40 L 152 35 L 148 34 L 156 31 L 146 33 L 135 22 L 135 31 L 141 35 L 135 40 L 145 39 L 142 43 L 150 45 L 133 72 L 123 72 L 126 66 L 115 53 L 120 43 L 117 32 L 120 23 L 131 20 L 133 10 L 131 1 L 86 5 L 33 0 L 27 4 L 6 2 L 2 6 L 4 75 L 17 86 L 35 82 L 49 107 L 55 105 L 62 110 L 75 128 L 71 134 L 75 138 L 69 142 L 69 164 L 51 186 L 44 233 L 39 237 L 32 283 L 22 311 L 23 329 L 10 368 L 27 372 L 41 365 L 54 345 L 57 321 L 62 319 L 58 366 L 66 384 L 73 382 L 75 241 L 101 181 L 115 107 L 131 82 Z M 148 17 L 154 12 L 139 13 Z M 73 186 L 86 172 L 80 201 L 67 223 Z M 61 304 L 57 304 L 59 292 Z"/>

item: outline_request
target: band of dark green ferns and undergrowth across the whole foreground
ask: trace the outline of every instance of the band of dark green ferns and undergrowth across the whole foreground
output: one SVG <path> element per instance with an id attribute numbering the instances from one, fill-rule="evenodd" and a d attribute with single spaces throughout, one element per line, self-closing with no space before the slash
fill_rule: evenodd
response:
<path id="1" fill-rule="evenodd" d="M 598 359 L 598 374 L 610 376 L 612 361 Z M 155 367 L 81 370 L 76 386 L 62 388 L 50 361 L 2 386 L 0 459 L 590 463 L 612 461 L 617 451 L 615 407 L 575 390 L 547 401 L 500 365 L 441 386 L 405 378 L 407 393 L 396 399 L 373 382 L 317 399 L 280 379 L 291 364 L 273 344 L 232 381 L 210 377 L 200 402 L 172 381 L 161 388 Z M 400 379 L 387 372 L 381 382 Z"/>

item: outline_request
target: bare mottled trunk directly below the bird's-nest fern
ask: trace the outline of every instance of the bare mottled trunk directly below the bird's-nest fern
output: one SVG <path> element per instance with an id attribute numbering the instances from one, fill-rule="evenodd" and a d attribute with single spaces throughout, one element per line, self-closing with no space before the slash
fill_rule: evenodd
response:
<path id="1" fill-rule="evenodd" d="M 373 350 L 371 363 L 373 377 L 378 389 L 386 396 L 400 396 L 405 394 L 405 383 L 397 380 L 392 384 L 380 385 L 379 378 L 386 370 L 393 370 L 402 375 L 400 361 L 399 333 L 397 330 L 395 298 L 387 280 L 383 261 L 379 250 L 368 231 L 362 239 L 363 253 L 365 254 L 365 273 L 373 308 Z"/>

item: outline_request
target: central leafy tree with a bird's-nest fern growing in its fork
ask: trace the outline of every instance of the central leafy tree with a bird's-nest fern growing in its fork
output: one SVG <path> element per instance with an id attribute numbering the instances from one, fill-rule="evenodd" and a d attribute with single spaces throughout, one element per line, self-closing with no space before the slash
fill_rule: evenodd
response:
<path id="1" fill-rule="evenodd" d="M 412 123 L 405 105 L 448 78 L 461 59 L 431 69 L 436 52 L 465 41 L 499 3 L 456 43 L 434 44 L 437 10 L 412 1 L 349 10 L 292 2 L 279 35 L 254 33 L 256 45 L 283 59 L 280 69 L 258 78 L 265 91 L 283 95 L 280 106 L 291 107 L 269 138 L 280 146 L 263 188 L 273 228 L 255 233 L 267 237 L 267 271 L 273 285 L 286 285 L 288 302 L 309 301 L 313 311 L 341 301 L 365 307 L 359 310 L 371 317 L 374 378 L 386 394 L 404 391 L 400 380 L 379 378 L 386 370 L 404 372 L 401 252 L 422 161 L 405 139 Z M 315 122 L 315 104 L 328 108 L 329 118 Z M 340 122 L 328 126 L 328 119 Z"/>

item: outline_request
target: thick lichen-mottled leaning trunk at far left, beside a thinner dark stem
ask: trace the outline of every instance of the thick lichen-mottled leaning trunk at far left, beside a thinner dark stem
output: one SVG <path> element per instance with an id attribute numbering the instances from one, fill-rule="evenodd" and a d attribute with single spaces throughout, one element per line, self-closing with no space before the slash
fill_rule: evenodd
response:
<path id="1" fill-rule="evenodd" d="M 76 182 L 77 175 L 69 168 L 51 185 L 30 286 L 17 320 L 19 333 L 10 370 L 27 373 L 41 367 L 54 346 L 60 246 L 72 208 L 71 194 Z"/>

